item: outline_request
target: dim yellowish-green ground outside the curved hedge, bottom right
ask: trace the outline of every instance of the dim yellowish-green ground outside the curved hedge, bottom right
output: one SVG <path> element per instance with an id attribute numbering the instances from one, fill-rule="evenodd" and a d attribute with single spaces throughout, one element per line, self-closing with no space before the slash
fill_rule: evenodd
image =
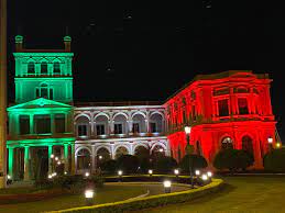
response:
<path id="1" fill-rule="evenodd" d="M 227 177 L 218 193 L 186 203 L 135 213 L 279 213 L 285 212 L 285 177 Z"/>

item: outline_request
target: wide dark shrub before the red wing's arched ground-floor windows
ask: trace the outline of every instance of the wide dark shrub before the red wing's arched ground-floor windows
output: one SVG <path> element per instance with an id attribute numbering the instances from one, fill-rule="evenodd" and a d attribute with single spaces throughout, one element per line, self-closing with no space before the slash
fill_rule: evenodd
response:
<path id="1" fill-rule="evenodd" d="M 213 167 L 217 169 L 229 169 L 235 171 L 246 169 L 253 165 L 253 158 L 245 150 L 228 148 L 219 152 L 213 159 Z"/>

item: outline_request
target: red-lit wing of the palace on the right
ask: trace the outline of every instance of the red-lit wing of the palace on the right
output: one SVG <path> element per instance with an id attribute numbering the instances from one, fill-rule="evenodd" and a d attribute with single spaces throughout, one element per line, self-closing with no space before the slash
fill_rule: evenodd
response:
<path id="1" fill-rule="evenodd" d="M 185 155 L 184 126 L 189 125 L 190 144 L 209 162 L 220 149 L 233 147 L 251 153 L 254 168 L 262 168 L 268 137 L 275 143 L 271 81 L 266 74 L 245 70 L 196 76 L 164 104 L 173 156 Z"/>

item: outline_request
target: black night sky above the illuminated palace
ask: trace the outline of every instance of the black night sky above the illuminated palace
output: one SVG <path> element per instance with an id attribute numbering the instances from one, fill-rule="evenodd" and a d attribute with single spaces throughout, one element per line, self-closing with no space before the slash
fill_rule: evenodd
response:
<path id="1" fill-rule="evenodd" d="M 197 74 L 251 69 L 273 79 L 273 109 L 281 123 L 282 5 L 242 0 L 151 2 L 9 0 L 10 101 L 14 35 L 21 33 L 28 48 L 63 48 L 68 26 L 75 101 L 163 101 Z"/>

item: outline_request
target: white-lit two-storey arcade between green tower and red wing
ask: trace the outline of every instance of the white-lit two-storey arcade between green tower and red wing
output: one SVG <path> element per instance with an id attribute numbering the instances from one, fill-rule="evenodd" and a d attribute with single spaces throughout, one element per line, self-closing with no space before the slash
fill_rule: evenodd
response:
<path id="1" fill-rule="evenodd" d="M 95 170 L 100 161 L 117 159 L 121 155 L 140 155 L 144 149 L 150 154 L 171 154 L 165 136 L 165 109 L 150 103 L 125 104 L 99 107 L 102 103 L 94 103 L 94 107 L 75 108 L 77 172 Z"/>

